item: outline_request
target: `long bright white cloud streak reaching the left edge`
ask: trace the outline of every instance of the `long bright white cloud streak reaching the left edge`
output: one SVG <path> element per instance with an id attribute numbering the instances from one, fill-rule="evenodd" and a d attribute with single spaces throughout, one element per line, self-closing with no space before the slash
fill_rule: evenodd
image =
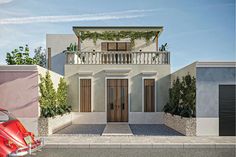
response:
<path id="1" fill-rule="evenodd" d="M 144 13 L 154 10 L 126 10 L 120 12 L 82 14 L 82 15 L 62 15 L 62 16 L 33 16 L 0 19 L 0 25 L 25 24 L 42 22 L 72 22 L 72 21 L 98 21 L 98 20 L 117 20 L 130 19 L 145 16 Z"/>

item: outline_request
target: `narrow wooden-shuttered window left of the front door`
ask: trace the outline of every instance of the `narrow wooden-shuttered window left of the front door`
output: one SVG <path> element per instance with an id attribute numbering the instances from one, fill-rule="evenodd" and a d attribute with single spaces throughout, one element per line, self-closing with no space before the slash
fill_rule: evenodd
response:
<path id="1" fill-rule="evenodd" d="M 80 112 L 91 112 L 91 79 L 80 79 Z"/>

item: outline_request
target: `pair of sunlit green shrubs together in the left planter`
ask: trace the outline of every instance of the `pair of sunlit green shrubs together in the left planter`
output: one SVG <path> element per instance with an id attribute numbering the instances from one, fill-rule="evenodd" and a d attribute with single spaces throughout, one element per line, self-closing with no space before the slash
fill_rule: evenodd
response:
<path id="1" fill-rule="evenodd" d="M 60 79 L 57 92 L 53 87 L 51 76 L 47 71 L 45 77 L 40 76 L 40 108 L 41 117 L 55 117 L 71 112 L 67 101 L 67 84 L 64 78 Z"/>

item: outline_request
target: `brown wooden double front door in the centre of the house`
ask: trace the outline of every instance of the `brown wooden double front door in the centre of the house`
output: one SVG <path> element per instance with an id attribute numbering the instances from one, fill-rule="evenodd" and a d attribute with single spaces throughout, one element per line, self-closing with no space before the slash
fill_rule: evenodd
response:
<path id="1" fill-rule="evenodd" d="M 107 121 L 128 122 L 128 79 L 107 80 Z"/>

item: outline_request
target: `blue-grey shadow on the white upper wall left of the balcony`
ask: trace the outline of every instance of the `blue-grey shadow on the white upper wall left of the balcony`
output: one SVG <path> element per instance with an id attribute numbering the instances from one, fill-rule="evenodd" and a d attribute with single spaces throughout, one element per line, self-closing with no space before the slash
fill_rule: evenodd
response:
<path id="1" fill-rule="evenodd" d="M 48 59 L 47 59 L 48 63 Z M 51 70 L 64 76 L 64 65 L 66 64 L 66 55 L 63 52 L 57 53 L 56 55 L 52 56 L 52 66 Z M 48 64 L 46 64 L 46 68 Z"/>

